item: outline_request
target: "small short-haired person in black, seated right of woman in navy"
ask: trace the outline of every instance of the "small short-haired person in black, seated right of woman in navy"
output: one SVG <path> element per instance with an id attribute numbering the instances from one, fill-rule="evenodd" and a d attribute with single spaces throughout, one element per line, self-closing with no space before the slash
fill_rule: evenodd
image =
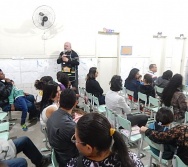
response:
<path id="1" fill-rule="evenodd" d="M 155 89 L 150 74 L 144 75 L 144 84 L 140 85 L 139 92 L 147 95 L 147 104 L 149 104 L 149 96 L 155 97 Z"/>

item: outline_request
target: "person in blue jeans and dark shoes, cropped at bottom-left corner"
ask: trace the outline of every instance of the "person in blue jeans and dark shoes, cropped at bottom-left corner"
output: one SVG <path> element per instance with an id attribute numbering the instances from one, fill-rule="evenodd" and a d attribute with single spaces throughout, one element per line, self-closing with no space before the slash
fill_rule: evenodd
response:
<path id="1" fill-rule="evenodd" d="M 14 140 L 0 139 L 0 161 L 8 167 L 27 167 L 25 158 L 16 158 L 16 155 L 23 152 L 36 167 L 49 165 L 50 157 L 43 156 L 33 142 L 26 136 Z"/>

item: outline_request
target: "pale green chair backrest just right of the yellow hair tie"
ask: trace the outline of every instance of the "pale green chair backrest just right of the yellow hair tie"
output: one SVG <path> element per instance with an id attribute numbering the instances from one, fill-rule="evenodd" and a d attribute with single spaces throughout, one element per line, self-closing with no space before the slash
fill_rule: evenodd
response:
<path id="1" fill-rule="evenodd" d="M 118 127 L 122 126 L 125 130 L 127 130 L 129 132 L 128 134 L 128 138 L 130 138 L 131 136 L 131 122 L 125 118 L 123 118 L 120 115 L 117 115 L 117 123 L 118 123 Z"/>

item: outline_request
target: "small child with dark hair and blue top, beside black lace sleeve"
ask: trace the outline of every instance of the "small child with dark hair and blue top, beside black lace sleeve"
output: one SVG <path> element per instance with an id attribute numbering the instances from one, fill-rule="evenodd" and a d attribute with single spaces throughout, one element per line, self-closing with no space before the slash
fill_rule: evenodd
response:
<path id="1" fill-rule="evenodd" d="M 170 109 L 167 107 L 162 107 L 156 114 L 156 121 L 151 123 L 148 128 L 153 129 L 155 131 L 164 132 L 168 131 L 168 126 L 174 120 L 174 115 Z M 150 146 L 151 151 L 159 156 L 159 150 Z M 176 151 L 176 147 L 170 144 L 164 144 L 164 152 L 162 155 L 163 159 L 170 160 L 173 158 L 174 152 Z"/>

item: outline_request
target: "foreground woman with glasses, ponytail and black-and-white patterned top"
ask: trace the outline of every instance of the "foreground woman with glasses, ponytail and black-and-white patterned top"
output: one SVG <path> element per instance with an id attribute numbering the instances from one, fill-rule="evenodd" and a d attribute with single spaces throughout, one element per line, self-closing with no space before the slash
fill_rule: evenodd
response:
<path id="1" fill-rule="evenodd" d="M 143 167 L 136 154 L 128 151 L 121 134 L 111 128 L 107 118 L 101 114 L 89 113 L 81 117 L 72 142 L 81 155 L 71 159 L 68 167 Z"/>

